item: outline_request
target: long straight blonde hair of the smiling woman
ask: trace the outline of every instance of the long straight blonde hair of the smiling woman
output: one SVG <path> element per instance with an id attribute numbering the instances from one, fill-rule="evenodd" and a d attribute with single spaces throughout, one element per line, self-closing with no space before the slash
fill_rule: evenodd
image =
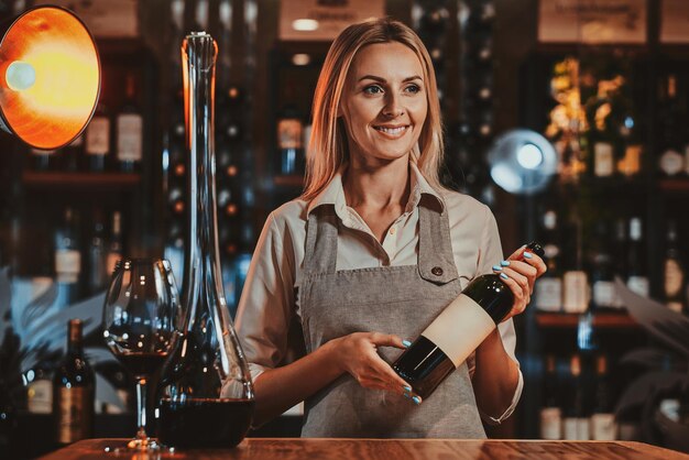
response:
<path id="1" fill-rule="evenodd" d="M 442 162 L 442 122 L 436 74 L 430 56 L 412 29 L 390 18 L 352 24 L 344 29 L 328 51 L 314 95 L 311 138 L 306 155 L 306 177 L 302 198 L 314 199 L 341 166 L 349 162 L 344 124 L 338 118 L 342 88 L 354 56 L 374 43 L 398 42 L 411 48 L 424 68 L 428 112 L 418 139 L 418 150 L 411 153 L 429 185 L 442 189 L 438 169 Z"/>

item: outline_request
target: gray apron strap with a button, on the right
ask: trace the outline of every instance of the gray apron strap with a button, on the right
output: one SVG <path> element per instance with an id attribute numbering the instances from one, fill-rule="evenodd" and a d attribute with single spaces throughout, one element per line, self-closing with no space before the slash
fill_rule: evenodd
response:
<path id="1" fill-rule="evenodd" d="M 446 284 L 459 276 L 452 258 L 447 212 L 418 206 L 418 273 L 426 281 Z"/>

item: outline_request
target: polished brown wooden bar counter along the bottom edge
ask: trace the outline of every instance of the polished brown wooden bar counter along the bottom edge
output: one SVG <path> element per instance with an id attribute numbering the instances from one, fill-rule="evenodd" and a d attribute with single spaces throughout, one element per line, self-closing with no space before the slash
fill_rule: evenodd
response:
<path id="1" fill-rule="evenodd" d="M 187 450 L 161 454 L 106 453 L 123 439 L 88 439 L 43 460 L 689 460 L 674 450 L 630 441 L 543 441 L 457 439 L 291 439 L 249 438 L 234 449 Z"/>

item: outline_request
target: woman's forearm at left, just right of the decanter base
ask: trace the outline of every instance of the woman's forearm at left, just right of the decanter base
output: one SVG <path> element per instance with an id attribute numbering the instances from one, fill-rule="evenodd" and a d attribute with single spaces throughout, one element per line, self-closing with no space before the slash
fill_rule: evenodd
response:
<path id="1" fill-rule="evenodd" d="M 336 340 L 291 364 L 266 370 L 256 377 L 254 426 L 263 425 L 283 414 L 344 372 L 333 358 L 333 342 Z"/>

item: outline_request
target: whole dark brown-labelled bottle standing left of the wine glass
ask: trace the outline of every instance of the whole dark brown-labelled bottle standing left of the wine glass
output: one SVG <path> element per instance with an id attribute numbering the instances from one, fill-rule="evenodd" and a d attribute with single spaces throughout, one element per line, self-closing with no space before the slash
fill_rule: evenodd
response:
<path id="1" fill-rule="evenodd" d="M 84 358 L 80 319 L 69 320 L 67 353 L 53 379 L 56 440 L 70 443 L 94 434 L 96 377 Z"/>

